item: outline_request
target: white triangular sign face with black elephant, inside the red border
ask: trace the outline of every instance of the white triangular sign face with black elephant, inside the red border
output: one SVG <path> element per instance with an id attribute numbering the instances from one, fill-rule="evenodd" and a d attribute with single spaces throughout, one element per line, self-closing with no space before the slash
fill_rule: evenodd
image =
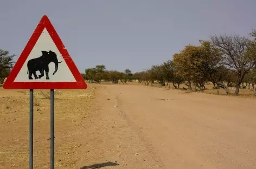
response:
<path id="1" fill-rule="evenodd" d="M 46 28 L 14 82 L 76 82 Z"/>

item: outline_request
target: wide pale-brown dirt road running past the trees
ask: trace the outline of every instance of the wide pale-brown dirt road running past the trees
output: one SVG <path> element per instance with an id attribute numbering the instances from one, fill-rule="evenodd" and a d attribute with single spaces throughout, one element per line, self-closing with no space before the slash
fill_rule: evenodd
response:
<path id="1" fill-rule="evenodd" d="M 102 86 L 97 98 L 92 128 L 113 168 L 256 166 L 254 99 L 140 85 Z"/>

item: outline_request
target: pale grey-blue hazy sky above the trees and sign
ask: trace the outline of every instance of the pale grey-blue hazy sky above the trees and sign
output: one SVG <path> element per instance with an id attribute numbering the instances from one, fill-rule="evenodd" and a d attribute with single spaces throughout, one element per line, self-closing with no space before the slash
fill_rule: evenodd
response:
<path id="1" fill-rule="evenodd" d="M 47 15 L 81 73 L 97 64 L 135 73 L 199 39 L 256 29 L 255 0 L 0 1 L 0 49 L 16 61 Z"/>

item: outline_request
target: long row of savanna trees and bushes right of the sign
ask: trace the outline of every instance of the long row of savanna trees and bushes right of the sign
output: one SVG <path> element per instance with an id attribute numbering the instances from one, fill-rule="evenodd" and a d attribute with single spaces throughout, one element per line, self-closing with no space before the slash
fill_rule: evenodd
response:
<path id="1" fill-rule="evenodd" d="M 172 85 L 179 89 L 203 92 L 206 84 L 212 83 L 213 89 L 222 88 L 226 94 L 238 95 L 240 89 L 248 89 L 256 95 L 256 31 L 250 37 L 239 35 L 213 35 L 209 41 L 200 40 L 199 46 L 185 46 L 178 53 L 159 65 L 142 72 L 131 73 L 106 70 L 104 65 L 85 70 L 88 82 L 126 83 L 136 81 L 146 86 Z M 234 89 L 234 93 L 231 92 Z"/>

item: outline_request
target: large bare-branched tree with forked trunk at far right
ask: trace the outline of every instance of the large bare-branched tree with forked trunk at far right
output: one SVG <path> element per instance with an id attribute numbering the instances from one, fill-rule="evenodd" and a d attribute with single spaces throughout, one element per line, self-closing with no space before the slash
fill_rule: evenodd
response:
<path id="1" fill-rule="evenodd" d="M 255 66 L 255 43 L 238 35 L 210 36 L 215 49 L 222 56 L 222 64 L 235 72 L 235 95 L 238 95 L 245 75 Z"/>

